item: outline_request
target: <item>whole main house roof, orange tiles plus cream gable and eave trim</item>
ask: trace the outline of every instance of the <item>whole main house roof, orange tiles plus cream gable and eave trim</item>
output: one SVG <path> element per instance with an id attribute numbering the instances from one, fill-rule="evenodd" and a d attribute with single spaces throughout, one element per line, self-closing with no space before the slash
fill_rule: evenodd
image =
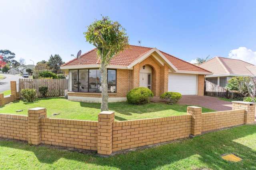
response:
<path id="1" fill-rule="evenodd" d="M 122 66 L 122 68 L 131 68 L 134 64 L 140 62 L 142 59 L 148 57 L 148 55 L 152 53 L 157 53 L 163 61 L 165 61 L 172 71 L 174 72 L 198 72 L 204 74 L 212 74 L 210 71 L 200 68 L 194 64 L 188 63 L 177 57 L 174 57 L 168 53 L 164 53 L 163 51 L 159 51 L 156 48 L 150 47 L 141 47 L 136 45 L 128 45 L 126 49 L 121 51 L 118 55 L 114 56 L 110 61 L 110 65 L 113 66 Z M 97 56 L 97 49 L 92 49 L 87 53 L 81 55 L 78 59 L 73 59 L 68 61 L 67 63 L 61 66 L 62 69 L 68 68 L 69 66 L 78 66 L 78 65 L 94 65 L 100 64 L 100 61 Z"/>

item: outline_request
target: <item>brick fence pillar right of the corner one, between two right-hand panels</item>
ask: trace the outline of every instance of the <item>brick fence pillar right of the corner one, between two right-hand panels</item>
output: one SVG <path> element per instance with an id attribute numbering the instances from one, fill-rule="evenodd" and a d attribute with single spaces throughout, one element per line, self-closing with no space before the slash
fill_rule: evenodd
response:
<path id="1" fill-rule="evenodd" d="M 187 114 L 192 116 L 191 135 L 200 135 L 202 130 L 202 107 L 188 106 Z"/>

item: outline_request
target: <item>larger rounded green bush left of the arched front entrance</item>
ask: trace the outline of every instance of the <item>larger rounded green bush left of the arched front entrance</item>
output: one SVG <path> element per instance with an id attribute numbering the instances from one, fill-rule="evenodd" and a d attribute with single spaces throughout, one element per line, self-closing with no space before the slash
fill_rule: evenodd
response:
<path id="1" fill-rule="evenodd" d="M 132 89 L 126 97 L 131 104 L 145 104 L 148 103 L 153 96 L 154 94 L 150 89 L 139 87 Z"/>

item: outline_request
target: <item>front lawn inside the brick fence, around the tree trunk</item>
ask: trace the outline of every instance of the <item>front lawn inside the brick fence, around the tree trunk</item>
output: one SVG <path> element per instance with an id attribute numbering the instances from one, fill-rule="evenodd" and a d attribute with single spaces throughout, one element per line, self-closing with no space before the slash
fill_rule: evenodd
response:
<path id="1" fill-rule="evenodd" d="M 0 107 L 0 113 L 11 113 L 19 115 L 27 115 L 28 109 L 34 107 L 45 107 L 47 109 L 47 117 L 63 118 L 63 119 L 79 119 L 79 120 L 98 120 L 100 113 L 100 104 L 73 102 L 65 98 L 45 98 L 33 103 L 17 101 Z M 21 112 L 16 110 L 23 109 Z M 131 105 L 127 102 L 109 103 L 109 109 L 115 111 L 116 121 L 144 119 L 152 117 L 167 117 L 173 115 L 186 115 L 186 105 L 167 105 L 158 103 L 149 103 L 146 105 Z M 213 111 L 203 108 L 203 112 Z M 53 113 L 60 115 L 53 116 Z"/>

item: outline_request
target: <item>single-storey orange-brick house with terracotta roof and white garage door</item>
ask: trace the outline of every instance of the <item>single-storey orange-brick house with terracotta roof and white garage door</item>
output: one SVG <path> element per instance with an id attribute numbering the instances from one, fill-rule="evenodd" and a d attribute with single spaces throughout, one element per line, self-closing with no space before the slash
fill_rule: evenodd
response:
<path id="1" fill-rule="evenodd" d="M 92 49 L 60 68 L 69 75 L 68 100 L 101 102 L 101 75 L 97 50 Z M 126 101 L 136 87 L 147 87 L 154 96 L 167 91 L 204 95 L 204 76 L 210 71 L 156 48 L 129 45 L 108 66 L 109 102 Z"/>

